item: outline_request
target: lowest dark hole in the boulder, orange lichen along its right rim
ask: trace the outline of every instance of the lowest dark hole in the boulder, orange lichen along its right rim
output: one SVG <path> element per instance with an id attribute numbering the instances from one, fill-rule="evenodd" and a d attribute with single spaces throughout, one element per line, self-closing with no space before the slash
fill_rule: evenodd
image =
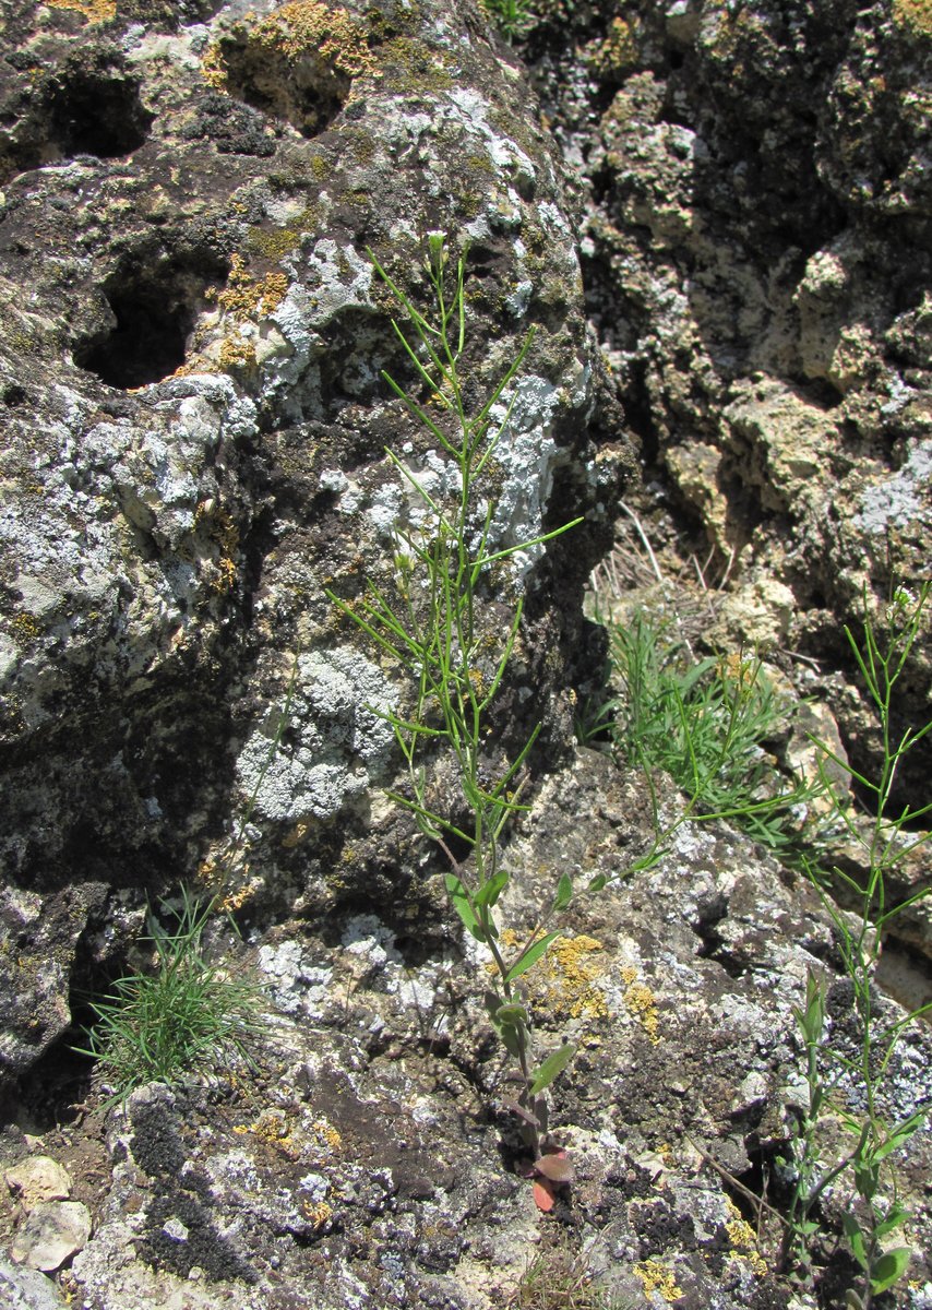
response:
<path id="1" fill-rule="evenodd" d="M 228 274 L 229 263 L 211 250 L 136 252 L 103 284 L 110 331 L 79 346 L 75 363 L 109 386 L 161 381 L 185 362 L 187 334 L 207 288 Z"/>

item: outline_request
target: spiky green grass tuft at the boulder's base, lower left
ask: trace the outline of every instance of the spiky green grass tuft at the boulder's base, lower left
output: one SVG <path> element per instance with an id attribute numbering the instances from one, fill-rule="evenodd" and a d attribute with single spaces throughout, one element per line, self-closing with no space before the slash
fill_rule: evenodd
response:
<path id="1" fill-rule="evenodd" d="M 213 901 L 200 904 L 186 889 L 171 927 L 149 910 L 144 941 L 152 943 L 152 969 L 116 979 L 92 1002 L 88 1044 L 75 1049 L 98 1061 L 111 1102 L 148 1082 L 177 1086 L 204 1064 L 253 1062 L 264 1027 L 262 996 L 207 959 L 203 934 L 212 912 Z"/>

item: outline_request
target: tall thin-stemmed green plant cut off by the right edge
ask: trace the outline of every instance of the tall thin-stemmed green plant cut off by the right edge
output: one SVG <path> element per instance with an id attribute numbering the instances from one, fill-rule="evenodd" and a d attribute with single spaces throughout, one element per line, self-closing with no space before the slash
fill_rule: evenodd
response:
<path id="1" fill-rule="evenodd" d="M 863 1271 L 860 1290 L 850 1289 L 852 1310 L 869 1310 L 876 1296 L 891 1288 L 905 1275 L 911 1250 L 890 1244 L 890 1239 L 907 1218 L 897 1196 L 894 1155 L 924 1124 L 932 1102 L 927 1102 L 890 1121 L 884 1112 L 882 1091 L 897 1045 L 903 1031 L 915 1019 L 932 1013 L 932 1002 L 911 1014 L 887 1020 L 877 1006 L 874 971 L 884 938 L 898 916 L 918 900 L 932 895 L 922 886 L 902 900 L 890 899 L 890 874 L 919 846 L 929 840 L 918 832 L 922 820 L 932 812 L 932 802 L 918 808 L 891 808 L 897 772 L 903 758 L 932 731 L 932 720 L 919 728 L 907 727 L 897 740 L 893 735 L 893 709 L 897 683 L 903 675 L 910 651 L 922 630 L 923 612 L 929 597 L 925 583 L 918 595 L 906 588 L 895 590 L 886 608 L 882 630 L 869 617 L 867 595 L 865 617 L 860 638 L 851 629 L 844 633 L 860 671 L 868 700 L 880 726 L 881 760 L 876 777 L 853 773 L 855 782 L 868 798 L 867 823 L 850 804 L 838 781 L 825 773 L 825 786 L 834 810 L 848 837 L 860 848 L 865 874 L 863 879 L 835 869 L 836 879 L 853 897 L 853 918 L 843 914 L 825 886 L 823 875 L 810 867 L 810 875 L 836 930 L 838 948 L 844 972 L 851 982 L 853 1049 L 833 1039 L 826 1030 L 827 982 L 812 973 L 806 984 L 804 1006 L 796 1019 L 805 1051 L 805 1085 L 808 1100 L 797 1121 L 792 1144 L 795 1172 L 788 1227 L 783 1243 L 784 1264 L 808 1269 L 809 1247 L 818 1234 L 817 1205 L 830 1186 L 850 1180 L 852 1204 L 844 1214 L 844 1233 L 851 1252 Z M 826 761 L 846 761 L 821 744 Z M 855 1093 L 851 1108 L 850 1093 Z M 825 1165 L 821 1159 L 819 1125 L 831 1114 L 846 1125 L 851 1145 L 840 1158 Z M 886 1188 L 881 1188 L 886 1174 Z"/>

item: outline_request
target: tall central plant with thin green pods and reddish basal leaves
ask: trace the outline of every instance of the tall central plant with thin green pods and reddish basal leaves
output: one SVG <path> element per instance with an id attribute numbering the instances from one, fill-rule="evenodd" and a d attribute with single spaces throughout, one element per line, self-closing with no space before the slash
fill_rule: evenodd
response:
<path id="1" fill-rule="evenodd" d="M 573 1047 L 564 1044 L 537 1064 L 531 1018 L 521 979 L 558 937 L 539 926 L 522 945 L 509 948 L 496 921 L 496 907 L 511 874 L 503 865 L 500 838 L 505 825 L 529 806 L 522 803 L 524 766 L 539 724 L 513 758 L 496 762 L 490 732 L 496 698 L 520 641 L 522 600 L 497 633 L 482 621 L 480 608 L 496 570 L 518 552 L 543 545 L 581 520 L 521 541 L 496 546 L 492 524 L 496 502 L 490 493 L 493 456 L 508 430 L 516 393 L 508 400 L 533 341 L 533 329 L 499 381 L 480 403 L 470 405 L 474 388 L 463 376 L 466 345 L 465 257 L 450 259 L 445 236 L 428 234 L 425 272 L 432 308 L 424 314 L 372 255 L 373 266 L 403 313 L 393 330 L 418 380 L 418 394 L 393 376 L 384 379 L 408 414 L 445 456 L 456 490 L 452 495 L 428 486 L 397 451 L 387 457 L 412 493 L 412 511 L 395 525 L 391 591 L 367 584 L 348 603 L 332 592 L 331 601 L 401 667 L 412 688 L 407 715 L 386 713 L 407 768 L 407 793 L 391 798 L 416 819 L 420 832 L 444 852 L 449 869 L 446 889 L 466 930 L 491 955 L 495 981 L 484 996 L 486 1009 L 503 1045 L 517 1065 L 517 1094 L 508 1102 L 520 1117 L 535 1179 L 538 1204 L 552 1205 L 554 1184 L 572 1178 L 572 1169 L 547 1131 L 546 1087 L 565 1068 Z M 436 414 L 436 417 L 435 417 Z M 431 758 L 453 764 L 459 803 L 444 812 L 433 799 Z M 461 819 L 463 814 L 467 817 Z M 465 850 L 465 855 L 456 852 Z M 564 875 L 552 913 L 572 897 Z"/>

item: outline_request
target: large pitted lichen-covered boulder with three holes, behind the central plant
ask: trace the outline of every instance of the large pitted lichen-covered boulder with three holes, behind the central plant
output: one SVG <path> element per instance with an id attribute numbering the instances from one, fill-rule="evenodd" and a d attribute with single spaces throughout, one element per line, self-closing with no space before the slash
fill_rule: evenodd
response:
<path id="1" fill-rule="evenodd" d="M 380 379 L 404 356 L 368 250 L 418 296 L 428 229 L 469 246 L 476 389 L 539 326 L 493 531 L 505 545 L 589 519 L 509 583 L 529 624 L 501 732 L 533 689 L 541 764 L 569 740 L 618 461 L 592 458 L 610 410 L 559 168 L 474 13 L 24 4 L 4 45 L 0 969 L 17 1073 L 68 1023 L 69 979 L 126 946 L 147 892 L 209 874 L 246 811 L 237 903 L 321 913 L 373 882 L 404 899 L 408 825 L 368 812 L 390 734 L 364 706 L 391 700 L 391 673 L 325 596 L 391 572 L 386 444 L 439 464 Z"/>

